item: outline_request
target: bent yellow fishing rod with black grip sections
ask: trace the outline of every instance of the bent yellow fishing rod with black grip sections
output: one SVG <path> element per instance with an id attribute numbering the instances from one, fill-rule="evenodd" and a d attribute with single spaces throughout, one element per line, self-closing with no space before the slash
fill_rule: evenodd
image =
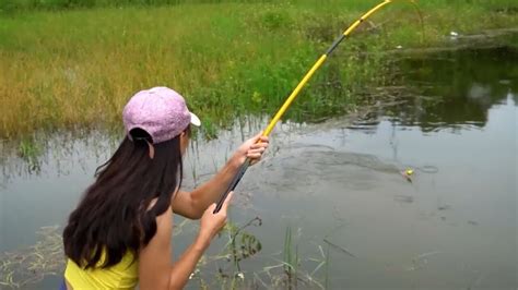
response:
<path id="1" fill-rule="evenodd" d="M 263 136 L 268 136 L 270 135 L 271 131 L 273 130 L 273 128 L 275 126 L 275 124 L 279 122 L 279 120 L 281 119 L 281 117 L 286 112 L 286 110 L 290 108 L 290 106 L 292 105 L 293 100 L 295 100 L 295 98 L 298 96 L 298 93 L 301 93 L 302 88 L 304 87 L 304 85 L 306 85 L 306 83 L 309 81 L 309 78 L 311 78 L 311 76 L 315 74 L 315 72 L 322 65 L 322 63 L 327 60 L 327 58 L 333 52 L 333 50 L 338 47 L 338 45 L 340 45 L 340 43 L 342 43 L 343 39 L 348 38 L 348 36 L 354 31 L 356 29 L 356 27 L 360 26 L 360 24 L 362 24 L 365 20 L 367 20 L 370 15 L 373 15 L 374 13 L 376 13 L 378 10 L 380 10 L 381 8 L 384 8 L 385 5 L 387 4 L 390 4 L 392 2 L 396 2 L 396 1 L 408 1 L 410 3 L 412 3 L 412 5 L 415 8 L 415 10 L 417 11 L 419 13 L 419 16 L 420 16 L 420 20 L 421 20 L 421 24 L 423 25 L 423 16 L 421 14 L 421 11 L 419 10 L 419 7 L 417 4 L 415 3 L 415 0 L 385 0 L 382 1 L 381 3 L 377 4 L 376 7 L 374 7 L 373 9 L 370 9 L 369 11 L 367 11 L 365 14 L 363 14 L 358 20 L 356 20 L 351 26 L 349 26 L 345 32 L 340 35 L 333 43 L 332 45 L 328 48 L 328 50 L 317 60 L 317 62 L 315 62 L 315 64 L 313 64 L 311 69 L 309 69 L 309 71 L 306 73 L 306 75 L 304 75 L 304 77 L 301 80 L 301 82 L 298 83 L 298 85 L 293 89 L 292 94 L 290 94 L 290 96 L 287 97 L 287 99 L 284 101 L 284 104 L 282 105 L 282 107 L 279 109 L 279 111 L 275 113 L 275 116 L 273 116 L 273 118 L 271 119 L 270 123 L 268 124 L 267 129 L 264 130 L 264 132 L 262 133 Z M 217 205 L 213 212 L 213 214 L 216 214 L 217 212 L 220 212 L 221 207 L 223 206 L 223 202 L 226 200 L 226 196 L 228 195 L 228 193 L 233 190 L 235 190 L 235 188 L 237 186 L 237 184 L 239 183 L 239 181 L 242 180 L 243 176 L 245 176 L 245 172 L 246 170 L 248 169 L 248 167 L 250 166 L 250 159 L 247 158 L 245 160 L 245 162 L 240 166 L 237 174 L 234 177 L 234 179 L 232 180 L 232 182 L 228 184 L 228 188 L 226 189 L 226 191 L 221 195 L 220 197 L 220 201 L 217 202 Z"/>

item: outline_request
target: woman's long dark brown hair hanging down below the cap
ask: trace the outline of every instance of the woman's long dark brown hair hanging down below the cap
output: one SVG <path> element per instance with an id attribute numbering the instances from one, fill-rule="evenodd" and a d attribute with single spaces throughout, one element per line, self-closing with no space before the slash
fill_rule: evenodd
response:
<path id="1" fill-rule="evenodd" d="M 138 254 L 156 233 L 156 216 L 169 209 L 181 185 L 179 136 L 153 145 L 153 159 L 151 137 L 139 129 L 131 136 L 97 168 L 95 182 L 70 214 L 63 231 L 64 254 L 80 267 L 106 268 L 128 251 Z M 149 208 L 153 198 L 157 201 Z M 99 264 L 103 251 L 106 256 Z"/>

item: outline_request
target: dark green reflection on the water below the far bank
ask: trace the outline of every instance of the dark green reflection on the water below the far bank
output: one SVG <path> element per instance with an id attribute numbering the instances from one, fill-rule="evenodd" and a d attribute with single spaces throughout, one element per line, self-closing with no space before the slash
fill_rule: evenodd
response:
<path id="1" fill-rule="evenodd" d="M 380 117 L 388 116 L 398 124 L 417 125 L 423 132 L 484 128 L 494 105 L 509 96 L 518 102 L 516 63 L 518 50 L 510 47 L 404 58 L 395 70 L 400 75 L 397 82 L 405 87 L 387 88 L 402 94 L 399 100 L 404 101 L 382 106 L 356 125 L 375 126 Z"/>

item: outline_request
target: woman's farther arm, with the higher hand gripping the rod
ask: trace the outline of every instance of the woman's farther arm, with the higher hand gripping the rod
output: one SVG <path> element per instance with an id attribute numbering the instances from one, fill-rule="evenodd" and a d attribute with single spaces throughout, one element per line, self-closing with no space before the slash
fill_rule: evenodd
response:
<path id="1" fill-rule="evenodd" d="M 262 132 L 246 141 L 211 180 L 192 192 L 178 192 L 172 203 L 173 210 L 187 218 L 200 218 L 203 210 L 210 204 L 217 202 L 221 194 L 227 190 L 246 158 L 250 158 L 252 164 L 258 162 L 268 145 L 269 138 L 262 136 Z"/>

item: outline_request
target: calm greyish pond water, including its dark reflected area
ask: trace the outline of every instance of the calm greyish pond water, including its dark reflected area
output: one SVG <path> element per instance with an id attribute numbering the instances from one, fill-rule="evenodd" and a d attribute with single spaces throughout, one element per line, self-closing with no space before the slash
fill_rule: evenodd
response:
<path id="1" fill-rule="evenodd" d="M 517 289 L 517 63 L 513 49 L 404 59 L 398 68 L 413 94 L 396 95 L 392 106 L 384 98 L 354 123 L 279 125 L 232 209 L 238 226 L 262 220 L 245 229 L 262 247 L 239 262 L 242 288 L 289 287 L 282 252 L 290 229 L 299 289 Z M 213 174 L 263 124 L 243 120 L 215 141 L 195 142 L 186 186 Z M 0 251 L 63 225 L 116 143 L 101 133 L 55 137 L 32 173 L 14 157 L 4 160 Z M 407 168 L 415 170 L 412 182 L 400 173 Z M 176 256 L 196 232 L 196 222 L 184 225 Z M 223 234 L 211 246 L 191 289 L 200 277 L 212 289 L 223 282 L 220 270 L 237 271 L 224 256 L 227 241 Z M 56 289 L 59 279 L 32 288 Z"/>

